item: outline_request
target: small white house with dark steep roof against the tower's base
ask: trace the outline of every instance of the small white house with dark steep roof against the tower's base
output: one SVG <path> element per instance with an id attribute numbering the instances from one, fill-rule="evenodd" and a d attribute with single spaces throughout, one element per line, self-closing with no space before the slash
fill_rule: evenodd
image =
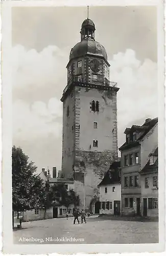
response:
<path id="1" fill-rule="evenodd" d="M 100 214 L 121 215 L 121 162 L 113 162 L 99 184 Z"/>

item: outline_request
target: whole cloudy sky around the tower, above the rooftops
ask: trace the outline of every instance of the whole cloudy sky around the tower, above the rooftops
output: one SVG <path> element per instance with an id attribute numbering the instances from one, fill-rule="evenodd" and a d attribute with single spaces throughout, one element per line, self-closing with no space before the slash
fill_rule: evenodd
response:
<path id="1" fill-rule="evenodd" d="M 62 96 L 70 49 L 80 41 L 86 7 L 12 8 L 13 145 L 38 171 L 61 169 Z M 124 131 L 157 117 L 155 7 L 90 7 L 95 38 L 117 82 L 118 147 Z"/>

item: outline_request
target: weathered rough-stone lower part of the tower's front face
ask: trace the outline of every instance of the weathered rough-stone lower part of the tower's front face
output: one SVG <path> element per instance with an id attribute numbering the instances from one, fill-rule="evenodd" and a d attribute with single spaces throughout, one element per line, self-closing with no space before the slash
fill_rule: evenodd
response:
<path id="1" fill-rule="evenodd" d="M 98 185 L 113 161 L 116 152 L 78 152 L 74 165 L 74 190 L 80 197 L 80 209 L 91 210 L 91 202 L 99 196 Z"/>

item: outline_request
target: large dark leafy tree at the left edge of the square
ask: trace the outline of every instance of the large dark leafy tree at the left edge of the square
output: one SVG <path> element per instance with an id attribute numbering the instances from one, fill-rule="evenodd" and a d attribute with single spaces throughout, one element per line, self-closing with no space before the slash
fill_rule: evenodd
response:
<path id="1" fill-rule="evenodd" d="M 12 208 L 26 211 L 43 207 L 43 181 L 34 175 L 36 166 L 20 147 L 12 147 Z M 14 225 L 14 223 L 13 223 Z"/>

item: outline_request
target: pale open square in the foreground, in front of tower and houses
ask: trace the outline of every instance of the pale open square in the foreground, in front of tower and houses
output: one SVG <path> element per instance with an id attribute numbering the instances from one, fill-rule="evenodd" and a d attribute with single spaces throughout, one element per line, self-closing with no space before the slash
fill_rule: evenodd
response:
<path id="1" fill-rule="evenodd" d="M 22 229 L 13 231 L 13 241 L 18 244 L 158 243 L 158 222 L 108 220 L 91 216 L 86 224 L 78 225 L 76 221 L 73 225 L 73 220 L 63 218 L 22 223 Z M 25 241 L 27 238 L 40 240 Z M 57 242 L 57 238 L 83 240 Z"/>

